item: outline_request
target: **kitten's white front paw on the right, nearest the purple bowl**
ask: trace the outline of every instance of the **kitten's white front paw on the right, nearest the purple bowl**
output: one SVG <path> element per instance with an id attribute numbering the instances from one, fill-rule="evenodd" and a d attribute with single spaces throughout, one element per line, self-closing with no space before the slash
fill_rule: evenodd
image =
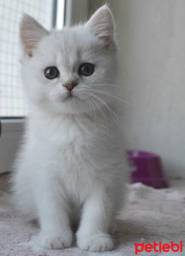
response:
<path id="1" fill-rule="evenodd" d="M 111 236 L 106 233 L 97 233 L 93 235 L 77 235 L 77 245 L 82 250 L 91 252 L 103 252 L 111 250 L 114 243 Z"/>

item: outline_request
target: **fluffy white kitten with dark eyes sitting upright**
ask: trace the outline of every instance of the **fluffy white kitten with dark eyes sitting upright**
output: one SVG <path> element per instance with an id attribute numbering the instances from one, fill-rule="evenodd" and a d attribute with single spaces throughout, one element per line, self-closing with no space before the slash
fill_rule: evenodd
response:
<path id="1" fill-rule="evenodd" d="M 84 25 L 57 32 L 24 15 L 20 35 L 29 117 L 14 174 L 16 203 L 39 218 L 40 246 L 70 247 L 76 221 L 78 247 L 110 250 L 128 169 L 116 116 L 111 11 L 102 6 Z"/>

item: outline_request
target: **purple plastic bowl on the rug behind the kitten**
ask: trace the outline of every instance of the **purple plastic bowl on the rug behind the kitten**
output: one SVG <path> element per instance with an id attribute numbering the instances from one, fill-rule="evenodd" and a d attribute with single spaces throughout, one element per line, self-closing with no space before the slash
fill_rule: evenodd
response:
<path id="1" fill-rule="evenodd" d="M 168 187 L 168 182 L 162 171 L 161 158 L 157 154 L 129 150 L 126 152 L 134 171 L 131 174 L 131 181 L 142 182 L 154 188 Z"/>

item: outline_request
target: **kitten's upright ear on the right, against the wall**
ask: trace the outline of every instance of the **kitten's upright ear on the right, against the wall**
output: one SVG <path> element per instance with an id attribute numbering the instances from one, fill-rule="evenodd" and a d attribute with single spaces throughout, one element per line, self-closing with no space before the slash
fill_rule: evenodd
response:
<path id="1" fill-rule="evenodd" d="M 86 23 L 88 29 L 108 47 L 114 41 L 114 17 L 107 5 L 100 7 Z"/>

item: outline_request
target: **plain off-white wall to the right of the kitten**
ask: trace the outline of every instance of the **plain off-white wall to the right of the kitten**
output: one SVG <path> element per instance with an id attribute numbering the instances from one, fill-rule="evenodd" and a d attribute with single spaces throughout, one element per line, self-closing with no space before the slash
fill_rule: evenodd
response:
<path id="1" fill-rule="evenodd" d="M 185 177 L 185 0 L 111 0 L 117 20 L 129 149 Z M 91 1 L 100 6 L 103 1 Z"/>

